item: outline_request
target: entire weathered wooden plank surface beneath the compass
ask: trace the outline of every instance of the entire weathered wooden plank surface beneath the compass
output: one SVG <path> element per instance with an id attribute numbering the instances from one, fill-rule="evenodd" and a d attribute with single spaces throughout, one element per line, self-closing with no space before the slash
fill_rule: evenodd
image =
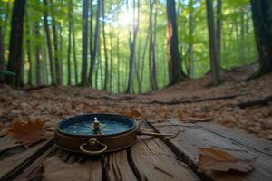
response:
<path id="1" fill-rule="evenodd" d="M 214 123 L 171 119 L 151 125 L 163 133 L 180 133 L 165 140 L 139 136 L 131 148 L 102 157 L 64 151 L 52 140 L 28 149 L 15 145 L 5 150 L 5 145 L 12 143 L 9 138 L 0 138 L 0 180 L 272 180 L 272 144 L 268 140 Z M 219 148 L 239 158 L 255 158 L 254 170 L 247 174 L 200 174 L 198 148 L 205 147 Z"/>

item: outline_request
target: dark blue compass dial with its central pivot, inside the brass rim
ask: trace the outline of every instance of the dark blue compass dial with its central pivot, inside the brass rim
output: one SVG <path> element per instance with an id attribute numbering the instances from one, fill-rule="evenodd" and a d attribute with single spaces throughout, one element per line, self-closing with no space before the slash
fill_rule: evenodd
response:
<path id="1" fill-rule="evenodd" d="M 99 129 L 95 129 L 95 123 L 99 124 Z M 125 117 L 111 114 L 90 114 L 64 119 L 59 123 L 58 130 L 74 136 L 94 136 L 120 134 L 135 126 L 133 120 Z"/>

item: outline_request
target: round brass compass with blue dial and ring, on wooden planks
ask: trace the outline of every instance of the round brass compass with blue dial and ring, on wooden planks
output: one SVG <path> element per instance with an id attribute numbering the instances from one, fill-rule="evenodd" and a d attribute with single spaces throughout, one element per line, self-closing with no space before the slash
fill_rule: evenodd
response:
<path id="1" fill-rule="evenodd" d="M 132 119 L 114 114 L 85 114 L 63 119 L 55 130 L 55 143 L 68 151 L 88 155 L 128 148 L 137 135 L 172 136 L 144 132 Z"/>

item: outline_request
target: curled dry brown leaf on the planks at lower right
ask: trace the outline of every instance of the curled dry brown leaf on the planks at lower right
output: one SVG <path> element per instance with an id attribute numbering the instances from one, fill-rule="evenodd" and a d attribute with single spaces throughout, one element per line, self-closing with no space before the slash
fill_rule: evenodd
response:
<path id="1" fill-rule="evenodd" d="M 253 168 L 250 160 L 238 159 L 226 151 L 215 148 L 199 148 L 198 166 L 204 172 L 237 170 L 246 173 Z"/>

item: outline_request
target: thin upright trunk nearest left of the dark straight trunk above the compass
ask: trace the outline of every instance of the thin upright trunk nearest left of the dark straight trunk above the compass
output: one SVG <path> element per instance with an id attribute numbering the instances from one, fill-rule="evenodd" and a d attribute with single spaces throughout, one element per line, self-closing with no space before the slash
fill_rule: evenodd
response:
<path id="1" fill-rule="evenodd" d="M 68 12 L 68 54 L 67 54 L 67 66 L 68 66 L 68 85 L 72 85 L 71 81 L 71 39 L 72 39 L 72 0 L 69 0 L 69 12 Z"/>

